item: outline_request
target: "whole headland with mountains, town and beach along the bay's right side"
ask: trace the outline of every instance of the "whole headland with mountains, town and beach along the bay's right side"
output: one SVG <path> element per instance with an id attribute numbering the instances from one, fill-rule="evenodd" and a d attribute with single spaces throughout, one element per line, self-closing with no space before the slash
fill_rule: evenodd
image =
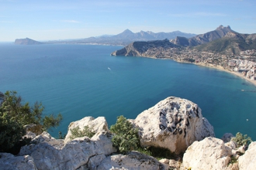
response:
<path id="1" fill-rule="evenodd" d="M 143 56 L 174 59 L 234 73 L 256 85 L 256 34 L 241 34 L 230 26 L 192 38 L 132 42 L 112 56 Z"/>

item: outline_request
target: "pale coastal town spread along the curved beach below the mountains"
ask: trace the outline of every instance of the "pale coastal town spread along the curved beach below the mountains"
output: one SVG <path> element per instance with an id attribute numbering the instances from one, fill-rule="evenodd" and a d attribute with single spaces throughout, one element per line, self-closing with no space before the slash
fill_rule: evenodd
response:
<path id="1" fill-rule="evenodd" d="M 182 63 L 194 63 L 200 66 L 214 67 L 234 73 L 251 83 L 256 83 L 256 50 L 241 51 L 234 56 L 223 53 L 199 52 L 197 49 L 148 48 L 140 56 L 158 59 L 174 59 Z"/>

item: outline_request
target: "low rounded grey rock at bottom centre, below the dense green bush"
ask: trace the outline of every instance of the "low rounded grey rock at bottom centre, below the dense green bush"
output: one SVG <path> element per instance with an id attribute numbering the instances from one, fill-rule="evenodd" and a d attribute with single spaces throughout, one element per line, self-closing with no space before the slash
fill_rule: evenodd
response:
<path id="1" fill-rule="evenodd" d="M 140 152 L 137 151 L 130 151 L 126 155 L 109 155 L 97 167 L 97 170 L 106 169 L 167 170 L 168 166 L 162 164 L 161 162 L 158 162 L 156 158 L 141 154 Z"/>

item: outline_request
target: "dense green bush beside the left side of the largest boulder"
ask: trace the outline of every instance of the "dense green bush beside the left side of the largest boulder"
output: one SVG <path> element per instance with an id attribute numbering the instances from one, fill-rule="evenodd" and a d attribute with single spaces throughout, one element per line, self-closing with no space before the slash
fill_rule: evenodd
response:
<path id="1" fill-rule="evenodd" d="M 134 151 L 140 147 L 140 138 L 138 129 L 133 128 L 133 124 L 126 120 L 126 117 L 117 117 L 116 124 L 110 127 L 110 131 L 114 134 L 112 138 L 113 146 L 121 153 Z"/>

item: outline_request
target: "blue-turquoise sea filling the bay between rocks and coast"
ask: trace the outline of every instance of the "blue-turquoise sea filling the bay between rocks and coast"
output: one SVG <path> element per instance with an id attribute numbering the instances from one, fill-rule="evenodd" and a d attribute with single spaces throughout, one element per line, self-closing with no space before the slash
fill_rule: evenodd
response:
<path id="1" fill-rule="evenodd" d="M 82 117 L 135 118 L 169 96 L 192 100 L 216 137 L 240 131 L 256 140 L 256 87 L 230 73 L 169 59 L 110 56 L 120 46 L 0 45 L 0 91 L 16 90 L 45 114 L 64 116 L 67 133 Z M 244 90 L 244 91 L 241 91 Z M 248 119 L 248 121 L 247 121 Z"/>

